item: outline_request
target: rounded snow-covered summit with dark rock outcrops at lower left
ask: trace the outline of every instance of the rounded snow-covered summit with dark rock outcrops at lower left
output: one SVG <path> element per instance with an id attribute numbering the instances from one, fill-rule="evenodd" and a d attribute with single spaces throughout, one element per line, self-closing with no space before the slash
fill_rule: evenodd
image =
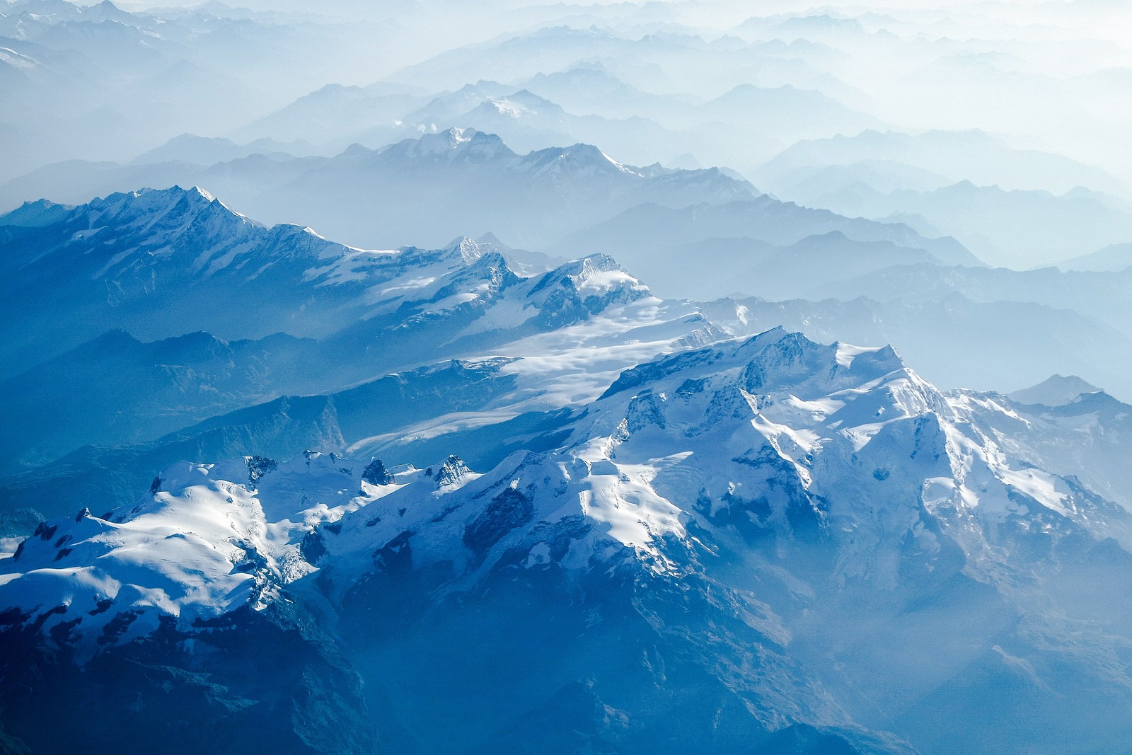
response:
<path id="1" fill-rule="evenodd" d="M 333 454 L 175 464 L 132 507 L 41 525 L 3 564 L 0 594 L 31 615 L 59 607 L 87 652 L 153 633 L 162 617 L 190 629 L 263 606 L 312 570 L 302 555 L 311 529 L 369 500 L 367 469 Z"/>

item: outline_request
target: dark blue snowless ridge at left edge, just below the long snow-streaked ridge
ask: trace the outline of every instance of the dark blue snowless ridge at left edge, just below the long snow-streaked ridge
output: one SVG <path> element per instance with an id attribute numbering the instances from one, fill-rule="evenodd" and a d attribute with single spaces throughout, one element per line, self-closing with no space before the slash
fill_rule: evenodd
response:
<path id="1" fill-rule="evenodd" d="M 0 383 L 0 469 L 34 466 L 89 443 L 147 440 L 308 379 L 316 342 L 204 332 L 143 343 L 110 331 Z"/>

